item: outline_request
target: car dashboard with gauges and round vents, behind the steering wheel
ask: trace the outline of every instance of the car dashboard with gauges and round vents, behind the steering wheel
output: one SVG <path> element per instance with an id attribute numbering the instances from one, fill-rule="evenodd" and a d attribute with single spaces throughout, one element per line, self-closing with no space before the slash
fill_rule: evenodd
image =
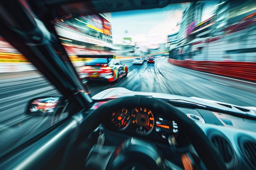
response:
<path id="1" fill-rule="evenodd" d="M 105 102 L 95 103 L 92 108 Z M 229 170 L 256 168 L 256 126 L 254 120 L 210 110 L 175 106 L 193 120 L 207 135 L 224 159 Z M 182 125 L 149 108 L 135 107 L 111 110 L 111 115 L 95 130 L 97 144 L 119 146 L 129 137 L 149 141 L 167 159 L 184 168 L 182 155 L 193 160 L 194 169 L 204 167 Z M 198 141 L 200 143 L 200 141 Z"/>

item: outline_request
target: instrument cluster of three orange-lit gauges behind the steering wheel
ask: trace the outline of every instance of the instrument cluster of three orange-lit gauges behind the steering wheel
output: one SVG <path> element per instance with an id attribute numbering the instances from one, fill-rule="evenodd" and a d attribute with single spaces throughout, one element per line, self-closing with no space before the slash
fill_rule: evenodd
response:
<path id="1" fill-rule="evenodd" d="M 175 120 L 170 120 L 163 115 L 155 114 L 148 108 L 133 108 L 128 110 L 122 108 L 110 116 L 112 128 L 118 131 L 126 130 L 128 127 L 137 135 L 148 135 L 155 131 L 157 136 L 168 142 L 168 139 L 177 137 L 180 132 Z"/>

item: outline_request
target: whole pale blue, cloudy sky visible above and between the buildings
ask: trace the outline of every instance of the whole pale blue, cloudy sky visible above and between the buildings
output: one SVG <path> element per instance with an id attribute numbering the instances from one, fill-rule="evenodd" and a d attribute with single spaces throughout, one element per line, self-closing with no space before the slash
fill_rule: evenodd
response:
<path id="1" fill-rule="evenodd" d="M 179 31 L 182 13 L 190 3 L 171 4 L 162 9 L 113 12 L 112 36 L 114 43 L 119 38 L 131 38 L 140 49 L 157 48 L 159 43 L 167 42 L 167 35 Z M 210 17 L 214 3 L 206 5 L 203 20 Z M 206 18 L 206 19 L 205 19 Z M 120 40 L 119 40 L 120 41 Z"/>

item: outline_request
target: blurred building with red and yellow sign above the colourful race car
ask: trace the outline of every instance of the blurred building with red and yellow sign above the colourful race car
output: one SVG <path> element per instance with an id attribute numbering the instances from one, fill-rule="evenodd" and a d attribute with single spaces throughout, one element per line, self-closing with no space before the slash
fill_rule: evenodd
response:
<path id="1" fill-rule="evenodd" d="M 55 24 L 65 49 L 72 55 L 115 54 L 123 50 L 113 44 L 111 13 L 62 19 Z"/>

